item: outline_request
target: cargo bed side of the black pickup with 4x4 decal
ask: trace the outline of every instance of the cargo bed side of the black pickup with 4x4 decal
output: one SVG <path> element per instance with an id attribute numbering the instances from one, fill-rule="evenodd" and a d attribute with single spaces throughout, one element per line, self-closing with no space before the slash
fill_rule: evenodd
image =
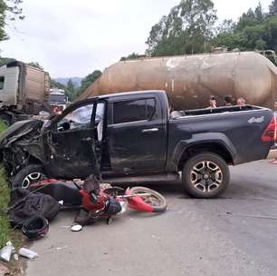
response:
<path id="1" fill-rule="evenodd" d="M 262 136 L 264 126 L 271 121 L 270 109 L 253 105 L 188 110 L 170 119 L 169 133 L 177 133 L 182 125 L 185 146 L 210 143 L 212 152 L 220 153 L 222 145 L 229 153 L 225 160 L 236 165 L 266 158 L 270 147 L 268 143 L 262 143 Z M 169 155 L 176 148 L 176 143 L 180 144 L 177 137 L 170 139 Z"/>

